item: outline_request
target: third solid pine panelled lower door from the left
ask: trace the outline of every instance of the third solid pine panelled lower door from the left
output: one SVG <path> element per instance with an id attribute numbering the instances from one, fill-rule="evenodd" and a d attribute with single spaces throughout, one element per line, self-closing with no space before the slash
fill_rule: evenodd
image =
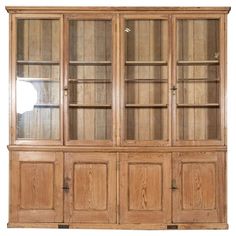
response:
<path id="1" fill-rule="evenodd" d="M 124 153 L 120 159 L 120 222 L 171 220 L 171 154 Z"/>

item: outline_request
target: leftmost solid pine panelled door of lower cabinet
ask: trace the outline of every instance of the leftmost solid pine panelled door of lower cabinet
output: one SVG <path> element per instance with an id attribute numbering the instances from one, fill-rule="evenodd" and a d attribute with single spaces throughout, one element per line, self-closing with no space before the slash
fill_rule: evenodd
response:
<path id="1" fill-rule="evenodd" d="M 10 222 L 62 222 L 62 187 L 61 152 L 12 152 Z"/>

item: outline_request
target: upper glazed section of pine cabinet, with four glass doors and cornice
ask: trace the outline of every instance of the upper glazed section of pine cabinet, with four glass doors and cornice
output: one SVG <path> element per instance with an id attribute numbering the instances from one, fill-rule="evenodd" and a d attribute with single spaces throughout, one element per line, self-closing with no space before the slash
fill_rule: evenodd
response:
<path id="1" fill-rule="evenodd" d="M 225 144 L 229 8 L 7 9 L 11 144 Z"/>

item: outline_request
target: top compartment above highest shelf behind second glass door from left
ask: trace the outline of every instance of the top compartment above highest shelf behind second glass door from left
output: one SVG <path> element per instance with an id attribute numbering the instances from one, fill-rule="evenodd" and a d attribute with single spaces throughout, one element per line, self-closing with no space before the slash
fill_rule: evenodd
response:
<path id="1" fill-rule="evenodd" d="M 111 61 L 110 20 L 70 20 L 70 61 Z"/>

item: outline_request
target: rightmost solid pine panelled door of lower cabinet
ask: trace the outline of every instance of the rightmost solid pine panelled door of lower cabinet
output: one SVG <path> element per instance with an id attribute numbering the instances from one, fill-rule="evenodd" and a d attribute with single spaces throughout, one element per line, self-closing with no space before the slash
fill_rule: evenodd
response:
<path id="1" fill-rule="evenodd" d="M 173 221 L 225 222 L 224 152 L 186 152 L 173 156 Z"/>

